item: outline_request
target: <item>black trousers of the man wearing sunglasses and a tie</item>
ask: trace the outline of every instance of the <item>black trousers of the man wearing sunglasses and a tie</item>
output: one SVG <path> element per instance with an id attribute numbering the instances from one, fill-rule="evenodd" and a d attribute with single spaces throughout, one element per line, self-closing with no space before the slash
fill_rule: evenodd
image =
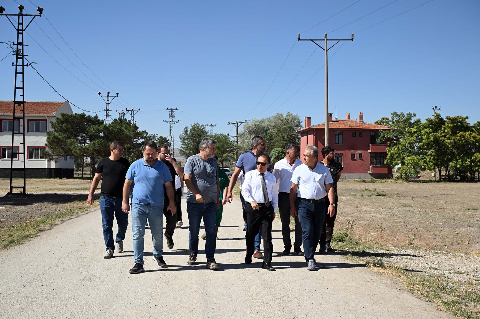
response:
<path id="1" fill-rule="evenodd" d="M 264 239 L 264 262 L 272 262 L 272 221 L 275 212 L 273 205 L 268 207 L 261 205 L 259 209 L 253 210 L 252 205 L 245 205 L 245 215 L 247 217 L 247 255 L 252 256 L 255 251 L 255 236 L 262 227 L 262 237 Z"/>

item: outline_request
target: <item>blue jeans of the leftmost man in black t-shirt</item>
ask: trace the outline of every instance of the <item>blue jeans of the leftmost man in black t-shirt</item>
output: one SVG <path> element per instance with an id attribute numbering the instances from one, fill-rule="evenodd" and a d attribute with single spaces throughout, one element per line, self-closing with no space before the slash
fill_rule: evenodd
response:
<path id="1" fill-rule="evenodd" d="M 121 210 L 121 197 L 100 196 L 100 212 L 102 213 L 103 239 L 105 239 L 106 250 L 115 250 L 113 242 L 113 216 L 117 219 L 117 236 L 115 242 L 125 239 L 125 232 L 128 227 L 128 214 Z"/>

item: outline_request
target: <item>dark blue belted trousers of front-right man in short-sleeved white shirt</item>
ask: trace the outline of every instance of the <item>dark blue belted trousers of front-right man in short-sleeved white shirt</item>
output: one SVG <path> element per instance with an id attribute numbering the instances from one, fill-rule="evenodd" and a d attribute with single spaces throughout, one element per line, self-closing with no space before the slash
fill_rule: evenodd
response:
<path id="1" fill-rule="evenodd" d="M 318 241 L 322 235 L 325 218 L 325 203 L 312 204 L 301 199 L 297 200 L 299 219 L 301 223 L 301 239 L 303 253 L 308 262 L 317 250 Z"/>

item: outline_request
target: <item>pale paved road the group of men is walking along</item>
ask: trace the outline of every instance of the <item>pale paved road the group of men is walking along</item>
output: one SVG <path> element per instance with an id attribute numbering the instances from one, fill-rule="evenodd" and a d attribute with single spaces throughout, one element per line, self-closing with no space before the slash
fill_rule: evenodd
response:
<path id="1" fill-rule="evenodd" d="M 274 222 L 276 272 L 261 261 L 245 265 L 241 210 L 227 204 L 217 241 L 222 271 L 187 266 L 188 220 L 175 247 L 164 245 L 168 268 L 146 253 L 145 272 L 133 266 L 129 227 L 125 251 L 103 259 L 99 210 L 66 220 L 24 245 L 0 251 L 0 318 L 453 318 L 363 265 L 319 256 L 316 272 L 303 257 L 283 256 L 280 222 Z M 147 230 L 145 251 L 152 251 Z M 200 242 L 201 248 L 204 241 Z M 401 288 L 401 290 L 398 290 Z"/>

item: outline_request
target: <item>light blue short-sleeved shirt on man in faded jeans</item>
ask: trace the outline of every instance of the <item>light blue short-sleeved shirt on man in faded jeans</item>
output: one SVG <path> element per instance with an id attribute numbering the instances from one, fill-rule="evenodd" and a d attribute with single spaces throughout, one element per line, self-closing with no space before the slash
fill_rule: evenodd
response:
<path id="1" fill-rule="evenodd" d="M 143 158 L 138 159 L 132 163 L 125 177 L 133 181 L 132 204 L 163 207 L 163 187 L 166 182 L 172 181 L 172 175 L 162 161 L 148 165 Z"/>

